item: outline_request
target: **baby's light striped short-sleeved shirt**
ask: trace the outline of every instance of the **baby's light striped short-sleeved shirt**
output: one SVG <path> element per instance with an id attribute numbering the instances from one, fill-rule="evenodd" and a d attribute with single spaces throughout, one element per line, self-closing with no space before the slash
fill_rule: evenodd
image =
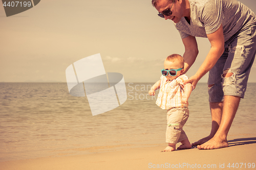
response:
<path id="1" fill-rule="evenodd" d="M 160 80 L 160 91 L 156 101 L 156 104 L 159 107 L 162 109 L 188 107 L 188 103 L 181 103 L 184 90 L 180 85 L 184 85 L 183 81 L 188 80 L 186 75 L 181 75 L 172 81 L 161 76 Z"/>

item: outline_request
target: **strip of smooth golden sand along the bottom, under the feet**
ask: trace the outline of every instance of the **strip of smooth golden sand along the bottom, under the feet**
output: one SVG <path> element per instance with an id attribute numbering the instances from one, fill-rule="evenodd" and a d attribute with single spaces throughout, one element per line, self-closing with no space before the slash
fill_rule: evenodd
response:
<path id="1" fill-rule="evenodd" d="M 160 152 L 166 145 L 76 156 L 0 162 L 2 170 L 40 169 L 254 169 L 256 137 L 234 138 L 218 150 Z M 253 163 L 253 164 L 252 164 Z M 254 168 L 252 168 L 254 165 Z M 228 167 L 230 166 L 230 167 Z M 250 166 L 250 168 L 249 168 Z"/>

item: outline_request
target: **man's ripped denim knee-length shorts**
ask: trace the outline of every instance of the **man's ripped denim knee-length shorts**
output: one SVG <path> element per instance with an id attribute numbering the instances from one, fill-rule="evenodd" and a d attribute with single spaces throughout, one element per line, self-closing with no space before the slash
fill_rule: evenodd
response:
<path id="1" fill-rule="evenodd" d="M 256 25 L 245 27 L 225 42 L 225 51 L 209 71 L 209 102 L 222 102 L 224 95 L 244 98 L 256 54 Z M 223 74 L 231 72 L 231 77 Z"/>

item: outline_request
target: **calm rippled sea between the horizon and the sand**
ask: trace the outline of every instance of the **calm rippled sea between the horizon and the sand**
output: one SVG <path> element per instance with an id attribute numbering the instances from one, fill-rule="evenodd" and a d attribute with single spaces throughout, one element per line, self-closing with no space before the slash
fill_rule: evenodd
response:
<path id="1" fill-rule="evenodd" d="M 148 95 L 154 83 L 126 83 L 127 100 L 92 115 L 86 97 L 69 94 L 67 83 L 0 83 L 0 161 L 92 154 L 165 143 L 166 110 Z M 158 93 L 158 91 L 157 91 Z M 255 137 L 256 83 L 248 83 L 228 134 Z M 207 84 L 189 98 L 184 126 L 190 142 L 209 134 Z"/>

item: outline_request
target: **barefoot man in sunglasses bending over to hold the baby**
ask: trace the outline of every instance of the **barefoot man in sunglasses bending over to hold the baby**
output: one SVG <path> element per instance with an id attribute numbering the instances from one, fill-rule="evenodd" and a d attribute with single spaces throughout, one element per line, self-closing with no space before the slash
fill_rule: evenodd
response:
<path id="1" fill-rule="evenodd" d="M 254 13 L 236 0 L 152 0 L 152 4 L 159 16 L 173 20 L 180 33 L 185 47 L 184 72 L 198 55 L 195 37 L 208 38 L 208 55 L 185 83 L 195 88 L 209 71 L 211 132 L 192 145 L 198 145 L 198 149 L 228 147 L 227 134 L 244 98 L 256 54 Z"/>

